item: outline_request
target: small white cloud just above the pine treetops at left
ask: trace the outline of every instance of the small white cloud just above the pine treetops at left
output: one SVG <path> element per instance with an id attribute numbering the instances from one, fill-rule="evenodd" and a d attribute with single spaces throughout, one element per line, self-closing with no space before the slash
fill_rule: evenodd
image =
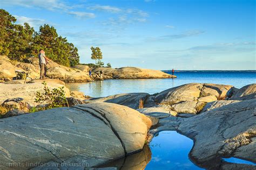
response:
<path id="1" fill-rule="evenodd" d="M 38 18 L 28 18 L 24 16 L 14 16 L 17 19 L 18 24 L 24 24 L 29 23 L 30 26 L 37 28 L 41 25 L 44 25 L 46 21 L 44 19 L 38 19 Z"/>

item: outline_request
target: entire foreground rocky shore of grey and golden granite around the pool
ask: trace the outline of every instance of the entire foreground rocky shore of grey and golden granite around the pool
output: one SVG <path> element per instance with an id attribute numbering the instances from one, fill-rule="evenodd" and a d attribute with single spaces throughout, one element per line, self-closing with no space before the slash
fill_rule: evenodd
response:
<path id="1" fill-rule="evenodd" d="M 46 81 L 51 88 L 65 86 L 62 81 Z M 6 167 L 6 162 L 37 161 L 84 162 L 98 167 L 139 152 L 160 131 L 176 130 L 193 139 L 190 158 L 199 167 L 255 169 L 222 158 L 256 162 L 256 84 L 237 89 L 190 83 L 154 95 L 101 98 L 86 98 L 66 89 L 66 97 L 72 98 L 71 107 L 24 114 L 24 103 L 35 105 L 33 93 L 42 89 L 40 83 L 0 83 L 2 107 L 18 105 L 23 111 L 19 116 L 0 119 L 1 168 L 14 168 Z M 15 99 L 18 97 L 23 100 Z"/>

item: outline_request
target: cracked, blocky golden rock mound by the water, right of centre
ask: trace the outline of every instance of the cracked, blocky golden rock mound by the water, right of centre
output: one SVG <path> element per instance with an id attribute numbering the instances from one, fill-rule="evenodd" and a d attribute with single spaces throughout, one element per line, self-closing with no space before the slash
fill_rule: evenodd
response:
<path id="1" fill-rule="evenodd" d="M 178 113 L 197 114 L 208 102 L 226 97 L 230 85 L 190 83 L 167 89 L 156 95 L 157 104 L 170 105 Z"/>

